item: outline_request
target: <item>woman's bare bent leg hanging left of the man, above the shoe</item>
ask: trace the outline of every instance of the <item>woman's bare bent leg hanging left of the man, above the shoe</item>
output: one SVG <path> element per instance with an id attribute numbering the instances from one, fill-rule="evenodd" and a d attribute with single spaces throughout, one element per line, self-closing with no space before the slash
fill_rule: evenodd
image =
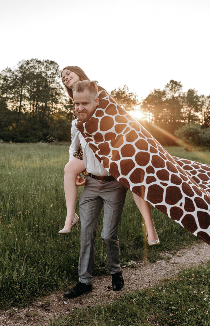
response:
<path id="1" fill-rule="evenodd" d="M 64 191 L 67 206 L 67 217 L 64 229 L 70 228 L 75 217 L 75 205 L 78 195 L 77 174 L 85 171 L 83 160 L 73 157 L 64 168 Z"/>

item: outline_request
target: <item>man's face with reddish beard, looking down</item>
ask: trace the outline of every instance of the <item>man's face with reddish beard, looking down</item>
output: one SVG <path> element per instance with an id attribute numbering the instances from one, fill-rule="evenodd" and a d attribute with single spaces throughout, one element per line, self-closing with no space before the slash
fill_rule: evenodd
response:
<path id="1" fill-rule="evenodd" d="M 88 89 L 80 93 L 75 91 L 73 97 L 78 120 L 83 123 L 88 121 L 96 111 L 98 97 L 96 98 Z"/>

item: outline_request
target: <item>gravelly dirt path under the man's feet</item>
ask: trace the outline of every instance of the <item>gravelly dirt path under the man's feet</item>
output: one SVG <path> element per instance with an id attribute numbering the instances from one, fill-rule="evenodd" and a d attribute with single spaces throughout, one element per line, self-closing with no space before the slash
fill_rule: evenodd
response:
<path id="1" fill-rule="evenodd" d="M 175 275 L 181 269 L 187 269 L 193 265 L 210 260 L 210 247 L 205 244 L 196 244 L 192 247 L 162 253 L 164 258 L 155 263 L 144 264 L 136 262 L 136 268 L 123 268 L 125 281 L 124 290 L 132 291 L 153 287 L 158 281 Z M 171 257 L 171 259 L 170 259 Z M 95 277 L 93 291 L 76 299 L 65 299 L 62 292 L 39 298 L 31 307 L 0 312 L 0 326 L 5 325 L 44 325 L 49 319 L 56 319 L 62 314 L 70 314 L 74 308 L 94 307 L 98 303 L 111 303 L 120 297 L 120 292 L 113 292 L 111 276 Z"/>

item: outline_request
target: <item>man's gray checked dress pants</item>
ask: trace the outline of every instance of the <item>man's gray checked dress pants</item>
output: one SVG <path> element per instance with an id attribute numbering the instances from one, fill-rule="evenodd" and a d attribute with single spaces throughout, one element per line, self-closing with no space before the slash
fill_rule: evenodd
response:
<path id="1" fill-rule="evenodd" d="M 108 268 L 111 274 L 120 272 L 117 231 L 128 189 L 116 180 L 103 182 L 90 176 L 86 176 L 86 179 L 80 197 L 81 250 L 78 274 L 80 282 L 90 285 L 93 282 L 97 222 L 103 205 L 101 238 L 107 250 Z"/>

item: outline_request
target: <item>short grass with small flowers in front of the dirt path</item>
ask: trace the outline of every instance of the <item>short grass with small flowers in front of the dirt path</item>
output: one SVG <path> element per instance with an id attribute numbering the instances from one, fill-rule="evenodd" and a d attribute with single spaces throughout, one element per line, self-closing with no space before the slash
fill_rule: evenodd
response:
<path id="1" fill-rule="evenodd" d="M 48 326 L 207 326 L 210 325 L 210 263 L 181 271 L 154 288 L 121 291 L 113 304 L 74 309 Z"/>

